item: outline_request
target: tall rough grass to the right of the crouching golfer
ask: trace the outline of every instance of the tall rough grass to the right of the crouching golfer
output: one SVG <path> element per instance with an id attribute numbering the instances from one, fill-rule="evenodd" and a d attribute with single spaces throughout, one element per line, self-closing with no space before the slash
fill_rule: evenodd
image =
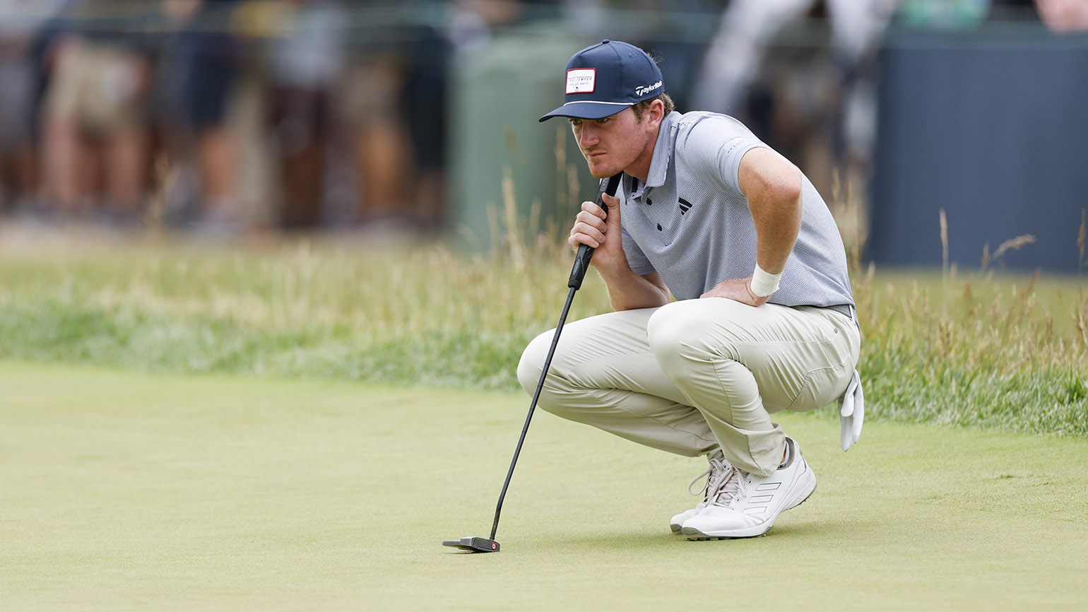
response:
<path id="1" fill-rule="evenodd" d="M 1088 432 L 1088 302 L 1072 279 L 855 281 L 876 415 Z M 920 286 L 919 286 L 920 285 Z"/>

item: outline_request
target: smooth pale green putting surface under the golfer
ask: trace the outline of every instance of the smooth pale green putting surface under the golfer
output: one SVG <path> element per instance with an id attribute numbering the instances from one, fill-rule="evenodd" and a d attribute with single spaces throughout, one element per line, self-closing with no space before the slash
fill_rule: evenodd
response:
<path id="1" fill-rule="evenodd" d="M 878 397 L 870 402 L 878 402 Z M 1085 610 L 1088 441 L 784 415 L 816 493 L 668 518 L 705 463 L 529 399 L 0 362 L 0 609 Z"/>

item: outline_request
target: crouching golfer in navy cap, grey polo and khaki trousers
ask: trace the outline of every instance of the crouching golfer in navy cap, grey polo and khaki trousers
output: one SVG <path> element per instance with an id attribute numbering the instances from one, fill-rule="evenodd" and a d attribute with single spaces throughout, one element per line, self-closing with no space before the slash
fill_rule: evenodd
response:
<path id="1" fill-rule="evenodd" d="M 834 220 L 789 160 L 731 117 L 679 113 L 642 49 L 603 40 L 567 63 L 566 103 L 590 172 L 622 172 L 607 213 L 582 204 L 568 242 L 614 313 L 569 323 L 540 406 L 709 466 L 688 539 L 765 534 L 816 476 L 771 420 L 840 401 L 843 450 L 861 432 L 860 331 Z M 675 301 L 673 301 L 675 298 Z M 553 332 L 518 378 L 532 392 Z"/>

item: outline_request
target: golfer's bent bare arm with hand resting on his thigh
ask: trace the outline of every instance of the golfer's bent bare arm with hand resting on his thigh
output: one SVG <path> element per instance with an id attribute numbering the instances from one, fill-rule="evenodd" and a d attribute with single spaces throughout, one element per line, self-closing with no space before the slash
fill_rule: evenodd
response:
<path id="1" fill-rule="evenodd" d="M 779 274 L 801 231 L 801 170 L 774 150 L 756 147 L 741 159 L 739 180 L 755 223 L 756 262 L 764 271 Z M 749 277 L 722 281 L 702 297 L 759 306 L 770 296 L 755 295 Z"/>

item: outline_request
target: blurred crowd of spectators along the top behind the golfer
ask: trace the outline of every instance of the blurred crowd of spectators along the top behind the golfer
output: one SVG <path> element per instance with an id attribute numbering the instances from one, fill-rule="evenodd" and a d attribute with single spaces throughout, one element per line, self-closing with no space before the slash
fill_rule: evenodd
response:
<path id="1" fill-rule="evenodd" d="M 460 158 L 516 166 L 532 145 L 581 169 L 554 132 L 517 142 L 553 130 L 533 108 L 517 130 L 467 121 L 486 107 L 463 91 L 486 87 L 466 65 L 500 56 L 520 65 L 510 103 L 552 108 L 565 58 L 603 37 L 659 58 L 679 110 L 742 119 L 826 197 L 865 204 L 890 29 L 1077 37 L 1088 2 L 0 0 L 0 209 L 225 235 L 456 231 L 460 208 L 484 204 L 457 201 L 471 189 L 456 183 L 491 181 Z M 554 84 L 519 91 L 530 72 Z M 453 142 L 465 125 L 505 134 L 507 150 Z"/>

